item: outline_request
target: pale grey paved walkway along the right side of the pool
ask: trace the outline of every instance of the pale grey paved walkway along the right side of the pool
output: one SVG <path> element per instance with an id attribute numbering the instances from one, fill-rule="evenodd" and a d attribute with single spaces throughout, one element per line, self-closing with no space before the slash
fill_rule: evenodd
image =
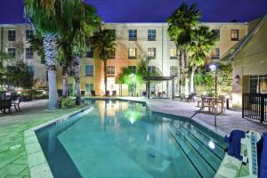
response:
<path id="1" fill-rule="evenodd" d="M 191 117 L 199 110 L 196 106 L 197 103 L 184 101 L 150 100 L 148 103 L 151 110 L 184 117 Z M 242 118 L 240 111 L 227 109 L 224 114 L 217 116 L 217 126 L 214 126 L 214 115 L 208 114 L 207 112 L 201 112 L 195 117 L 192 117 L 192 119 L 200 124 L 213 128 L 214 131 L 221 130 L 226 134 L 230 134 L 233 129 L 244 131 L 255 130 L 261 134 L 267 132 L 267 125 Z"/>

